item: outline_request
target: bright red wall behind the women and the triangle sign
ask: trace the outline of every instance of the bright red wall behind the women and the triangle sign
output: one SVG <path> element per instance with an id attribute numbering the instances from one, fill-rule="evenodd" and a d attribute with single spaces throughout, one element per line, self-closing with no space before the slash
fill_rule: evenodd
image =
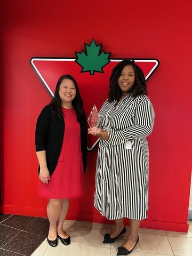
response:
<path id="1" fill-rule="evenodd" d="M 1 212 L 46 217 L 47 201 L 38 197 L 34 132 L 39 111 L 51 97 L 30 59 L 75 58 L 75 51 L 81 52 L 84 43 L 94 38 L 105 52 L 111 52 L 111 58 L 156 58 L 160 62 L 148 81 L 155 125 L 148 137 L 148 219 L 141 226 L 187 231 L 192 142 L 191 1 L 2 2 Z M 85 102 L 88 89 L 83 94 Z M 91 90 L 97 91 L 97 84 Z M 101 88 L 104 99 L 102 92 Z M 108 222 L 93 207 L 96 158 L 97 148 L 89 152 L 85 194 L 71 200 L 68 219 Z"/>

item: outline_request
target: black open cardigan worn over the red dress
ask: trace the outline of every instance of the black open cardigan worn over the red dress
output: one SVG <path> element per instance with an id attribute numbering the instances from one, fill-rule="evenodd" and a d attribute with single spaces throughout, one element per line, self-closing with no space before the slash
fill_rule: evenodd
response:
<path id="1" fill-rule="evenodd" d="M 79 122 L 81 127 L 81 151 L 83 169 L 86 171 L 87 162 L 87 144 L 86 144 L 86 117 Z M 50 176 L 57 166 L 61 153 L 63 135 L 65 132 L 65 121 L 58 116 L 54 116 L 50 107 L 45 106 L 37 118 L 35 130 L 35 146 L 36 151 L 46 150 L 47 168 Z M 38 168 L 38 173 L 40 166 Z"/>

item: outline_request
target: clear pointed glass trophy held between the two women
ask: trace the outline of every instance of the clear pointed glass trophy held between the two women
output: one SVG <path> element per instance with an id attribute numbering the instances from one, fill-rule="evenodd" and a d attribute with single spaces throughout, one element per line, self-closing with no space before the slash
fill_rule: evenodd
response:
<path id="1" fill-rule="evenodd" d="M 96 135 L 96 134 L 99 135 L 99 133 L 101 132 L 101 129 L 98 127 L 101 123 L 101 120 L 100 120 L 99 113 L 98 113 L 98 110 L 95 105 L 93 106 L 91 113 L 90 113 L 89 117 L 87 118 L 87 123 L 90 126 L 90 129 L 88 129 L 88 133 L 94 134 L 94 135 Z"/>

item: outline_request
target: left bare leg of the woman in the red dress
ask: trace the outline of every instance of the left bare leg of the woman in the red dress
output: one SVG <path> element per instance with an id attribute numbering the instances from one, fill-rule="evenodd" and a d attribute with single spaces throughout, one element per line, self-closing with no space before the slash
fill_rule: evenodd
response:
<path id="1" fill-rule="evenodd" d="M 57 221 L 61 212 L 62 199 L 50 199 L 47 204 L 47 216 L 50 222 L 49 235 L 50 240 L 57 238 Z"/>

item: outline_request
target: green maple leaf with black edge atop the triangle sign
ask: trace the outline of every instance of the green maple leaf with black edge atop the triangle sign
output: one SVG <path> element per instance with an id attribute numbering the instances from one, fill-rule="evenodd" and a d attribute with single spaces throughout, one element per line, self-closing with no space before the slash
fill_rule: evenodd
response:
<path id="1" fill-rule="evenodd" d="M 101 52 L 102 44 L 96 45 L 94 39 L 90 45 L 85 44 L 86 51 L 75 52 L 76 60 L 82 67 L 81 72 L 90 72 L 90 75 L 94 75 L 94 72 L 104 73 L 102 68 L 110 62 L 110 54 Z"/>

